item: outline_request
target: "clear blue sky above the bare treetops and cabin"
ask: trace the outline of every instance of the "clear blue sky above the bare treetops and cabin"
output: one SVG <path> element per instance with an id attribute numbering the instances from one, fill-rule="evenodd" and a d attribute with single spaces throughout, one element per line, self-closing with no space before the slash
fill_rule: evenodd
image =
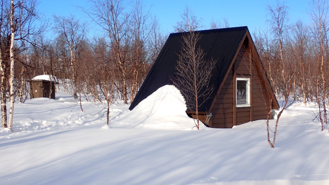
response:
<path id="1" fill-rule="evenodd" d="M 53 14 L 67 16 L 71 13 L 82 20 L 85 19 L 85 15 L 75 6 L 86 7 L 89 3 L 88 0 L 39 0 L 39 2 L 39 11 L 44 12 L 49 18 L 52 18 Z M 256 28 L 266 28 L 266 19 L 268 19 L 266 5 L 276 4 L 276 0 L 144 0 L 143 2 L 147 8 L 152 6 L 150 11 L 157 16 L 161 27 L 168 33 L 173 32 L 173 26 L 180 20 L 180 13 L 186 5 L 196 16 L 203 19 L 203 24 L 207 28 L 212 18 L 220 21 L 227 18 L 231 27 L 248 26 L 250 32 L 253 32 Z M 301 19 L 309 23 L 308 2 L 309 0 L 286 2 L 291 22 Z"/>

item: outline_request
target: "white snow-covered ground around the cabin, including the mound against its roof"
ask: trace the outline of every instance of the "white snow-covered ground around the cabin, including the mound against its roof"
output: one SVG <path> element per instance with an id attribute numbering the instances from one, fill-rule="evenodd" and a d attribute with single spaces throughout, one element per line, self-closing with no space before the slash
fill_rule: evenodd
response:
<path id="1" fill-rule="evenodd" d="M 271 149 L 264 120 L 196 130 L 182 102 L 165 86 L 133 111 L 111 105 L 111 128 L 105 105 L 82 112 L 63 91 L 16 103 L 13 132 L 0 129 L 0 184 L 329 184 L 329 134 L 311 106 L 283 113 Z"/>

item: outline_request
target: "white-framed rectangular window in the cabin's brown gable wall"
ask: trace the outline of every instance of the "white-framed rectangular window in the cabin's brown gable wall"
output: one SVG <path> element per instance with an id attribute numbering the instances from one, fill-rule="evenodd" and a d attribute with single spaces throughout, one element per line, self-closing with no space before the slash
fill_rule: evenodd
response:
<path id="1" fill-rule="evenodd" d="M 237 107 L 250 106 L 250 78 L 236 79 Z"/>

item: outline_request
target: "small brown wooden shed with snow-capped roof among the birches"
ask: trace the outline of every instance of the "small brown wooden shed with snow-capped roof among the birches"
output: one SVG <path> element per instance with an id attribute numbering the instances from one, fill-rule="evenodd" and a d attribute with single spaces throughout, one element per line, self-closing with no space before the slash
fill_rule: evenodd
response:
<path id="1" fill-rule="evenodd" d="M 49 75 L 40 75 L 30 82 L 30 99 L 33 98 L 49 98 L 51 92 L 51 99 L 55 99 L 55 84 L 58 84 L 54 79 L 49 78 Z"/>

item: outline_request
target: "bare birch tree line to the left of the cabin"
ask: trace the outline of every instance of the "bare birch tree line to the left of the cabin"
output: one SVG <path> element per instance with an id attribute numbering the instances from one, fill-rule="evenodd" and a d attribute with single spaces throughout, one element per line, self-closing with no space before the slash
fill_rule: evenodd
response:
<path id="1" fill-rule="evenodd" d="M 107 117 L 109 104 L 130 103 L 165 41 L 149 9 L 139 0 L 91 0 L 89 7 L 78 7 L 99 31 L 87 37 L 86 22 L 53 15 L 50 25 L 37 5 L 37 0 L 0 0 L 2 127 L 12 128 L 6 103 L 11 102 L 11 117 L 14 102 L 28 99 L 26 81 L 38 75 L 56 76 L 77 102 L 107 104 Z"/>

